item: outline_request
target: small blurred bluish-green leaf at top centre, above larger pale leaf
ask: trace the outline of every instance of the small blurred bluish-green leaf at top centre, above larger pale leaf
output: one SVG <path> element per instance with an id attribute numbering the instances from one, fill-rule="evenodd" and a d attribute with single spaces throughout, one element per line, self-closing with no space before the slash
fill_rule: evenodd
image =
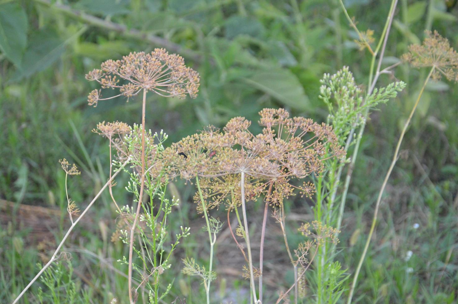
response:
<path id="1" fill-rule="evenodd" d="M 238 35 L 261 37 L 264 30 L 261 22 L 245 16 L 231 16 L 224 24 L 225 35 L 228 39 L 233 39 Z"/>

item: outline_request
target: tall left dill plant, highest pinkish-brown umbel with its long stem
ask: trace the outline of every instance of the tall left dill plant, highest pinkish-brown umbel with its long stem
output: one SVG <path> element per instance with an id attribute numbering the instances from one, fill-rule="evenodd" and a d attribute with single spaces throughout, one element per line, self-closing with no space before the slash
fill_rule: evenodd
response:
<path id="1" fill-rule="evenodd" d="M 186 95 L 189 95 L 192 98 L 195 98 L 197 96 L 200 78 L 196 71 L 185 66 L 185 61 L 180 55 L 169 54 L 163 48 L 156 48 L 151 53 L 130 53 L 129 55 L 124 56 L 122 60 L 115 61 L 109 59 L 101 64 L 100 69 L 93 69 L 91 72 L 89 72 L 86 75 L 86 79 L 98 82 L 102 89 L 118 89 L 120 91 L 120 94 L 116 96 L 102 98 L 102 90 L 94 89 L 91 91 L 87 98 L 88 104 L 93 105 L 94 107 L 97 106 L 98 101 L 108 100 L 118 96 L 125 96 L 127 99 L 140 93 L 142 93 L 143 96 L 142 124 L 140 128 L 134 129 L 136 136 L 132 137 L 131 142 L 128 143 L 128 148 L 131 149 L 130 152 L 134 152 L 134 154 L 127 154 L 126 156 L 134 162 L 133 167 L 136 171 L 135 174 L 138 175 L 140 181 L 138 185 L 135 183 L 135 185 L 138 186 L 138 195 L 136 195 L 138 203 L 128 238 L 128 288 L 129 300 L 131 304 L 133 304 L 135 303 L 134 292 L 136 292 L 136 289 L 132 286 L 135 229 L 137 228 L 137 222 L 140 216 L 140 210 L 142 208 L 142 198 L 145 192 L 145 182 L 147 180 L 149 181 L 147 176 L 151 174 L 148 173 L 148 171 L 152 169 L 151 167 L 147 167 L 148 161 L 150 160 L 149 155 L 147 155 L 147 152 L 149 152 L 147 149 L 149 149 L 148 146 L 153 142 L 153 139 L 147 140 L 147 134 L 145 132 L 147 93 L 153 92 L 159 96 L 178 98 L 185 98 Z M 120 79 L 124 80 L 125 83 L 120 83 Z M 159 139 L 159 142 L 162 146 L 161 140 L 162 138 Z M 132 144 L 136 145 L 132 146 Z M 156 149 L 157 148 L 158 146 Z M 156 160 L 156 154 L 153 157 L 153 161 L 154 160 Z M 158 180 L 161 178 L 162 176 L 159 176 Z M 132 184 L 135 181 L 136 180 L 133 179 Z M 149 190 L 151 192 L 152 185 L 158 185 L 157 181 L 150 181 L 149 185 L 147 185 L 147 191 Z M 157 190 L 162 189 L 159 186 L 157 187 L 158 188 L 153 188 Z M 131 189 L 131 191 L 136 193 L 136 189 Z M 150 198 L 152 197 L 153 196 L 150 196 Z M 161 200 L 161 203 L 164 203 L 164 200 Z M 156 233 L 156 231 L 153 231 L 153 234 L 154 233 Z M 187 231 L 183 231 L 183 235 L 187 235 Z M 157 263 L 154 264 L 156 265 Z M 158 265 L 155 267 L 158 267 Z M 156 271 L 157 269 L 153 268 L 152 272 Z M 154 300 L 156 302 L 158 301 L 157 293 L 154 295 Z"/>

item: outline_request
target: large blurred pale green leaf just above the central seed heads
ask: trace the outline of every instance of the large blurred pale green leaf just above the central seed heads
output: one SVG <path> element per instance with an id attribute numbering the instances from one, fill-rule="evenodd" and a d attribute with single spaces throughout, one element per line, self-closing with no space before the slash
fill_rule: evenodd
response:
<path id="1" fill-rule="evenodd" d="M 304 88 L 289 69 L 259 70 L 245 81 L 289 107 L 305 110 L 310 106 Z"/>

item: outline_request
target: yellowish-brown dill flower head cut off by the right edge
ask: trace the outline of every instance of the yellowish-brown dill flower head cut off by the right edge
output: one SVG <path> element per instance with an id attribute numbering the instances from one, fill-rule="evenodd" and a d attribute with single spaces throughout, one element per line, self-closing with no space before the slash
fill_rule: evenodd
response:
<path id="1" fill-rule="evenodd" d="M 458 53 L 450 47 L 448 39 L 437 31 L 426 31 L 423 43 L 410 45 L 409 53 L 405 53 L 402 59 L 417 68 L 434 68 L 434 80 L 441 79 L 443 75 L 448 80 L 458 82 Z"/>

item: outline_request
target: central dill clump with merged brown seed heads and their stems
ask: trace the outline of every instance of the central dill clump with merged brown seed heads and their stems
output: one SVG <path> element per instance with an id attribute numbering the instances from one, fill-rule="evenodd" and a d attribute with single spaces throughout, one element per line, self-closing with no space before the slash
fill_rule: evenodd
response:
<path id="1" fill-rule="evenodd" d="M 284 199 L 295 195 L 296 192 L 302 196 L 313 195 L 315 187 L 310 181 L 296 185 L 295 180 L 303 180 L 312 174 L 321 174 L 325 160 L 340 158 L 343 153 L 332 127 L 325 123 L 315 123 L 305 117 L 291 118 L 284 109 L 263 109 L 259 115 L 262 133 L 251 133 L 251 121 L 244 117 L 234 117 L 222 131 L 210 126 L 200 133 L 172 144 L 164 151 L 164 160 L 170 164 L 169 176 L 180 176 L 196 182 L 197 192 L 194 200 L 197 203 L 197 211 L 203 213 L 206 219 L 210 241 L 210 264 L 207 271 L 207 268 L 198 266 L 195 261 L 185 260 L 184 272 L 203 278 L 207 303 L 210 283 L 214 277 L 213 245 L 219 230 L 219 224 L 215 224 L 219 223 L 219 220 L 209 216 L 210 209 L 218 208 L 220 204 L 225 203 L 229 223 L 229 213 L 234 211 L 239 223 L 236 235 L 245 241 L 246 255 L 245 247 L 236 240 L 233 232 L 231 235 L 247 262 L 242 269 L 243 276 L 250 279 L 251 299 L 254 303 L 260 303 L 263 246 L 260 249 L 259 267 L 256 267 L 248 233 L 250 216 L 247 212 L 247 203 L 256 202 L 259 197 L 263 197 L 266 203 L 261 244 L 265 235 L 268 207 L 271 206 L 275 210 L 283 229 L 295 277 L 298 278 L 298 263 L 290 251 L 284 230 Z M 258 291 L 255 285 L 257 278 L 260 283 Z"/>

